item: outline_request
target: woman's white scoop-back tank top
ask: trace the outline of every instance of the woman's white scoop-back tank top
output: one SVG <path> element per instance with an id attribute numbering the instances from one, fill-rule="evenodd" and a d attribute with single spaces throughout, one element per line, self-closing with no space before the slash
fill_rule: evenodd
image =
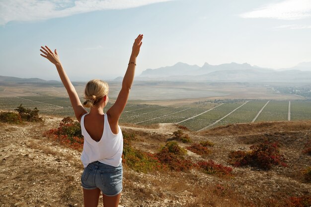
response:
<path id="1" fill-rule="evenodd" d="M 122 162 L 123 136 L 120 126 L 117 135 L 111 132 L 107 115 L 104 114 L 104 132 L 99 141 L 92 139 L 84 127 L 84 114 L 81 117 L 81 132 L 84 137 L 81 161 L 86 167 L 89 163 L 99 161 L 101 163 L 117 167 Z"/>

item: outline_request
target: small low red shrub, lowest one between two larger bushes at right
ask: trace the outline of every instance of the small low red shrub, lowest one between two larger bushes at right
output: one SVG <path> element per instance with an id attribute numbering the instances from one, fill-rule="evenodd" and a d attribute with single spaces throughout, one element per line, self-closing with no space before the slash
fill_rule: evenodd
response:
<path id="1" fill-rule="evenodd" d="M 222 164 L 217 164 L 213 160 L 209 161 L 199 161 L 197 163 L 198 167 L 203 169 L 207 174 L 215 174 L 218 176 L 231 176 L 232 168 L 226 167 Z"/>

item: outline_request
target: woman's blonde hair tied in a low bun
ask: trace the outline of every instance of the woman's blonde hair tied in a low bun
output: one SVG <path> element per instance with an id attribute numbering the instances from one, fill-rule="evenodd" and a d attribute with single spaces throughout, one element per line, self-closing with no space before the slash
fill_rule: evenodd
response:
<path id="1" fill-rule="evenodd" d="M 83 106 L 91 108 L 95 106 L 101 99 L 108 95 L 108 83 L 99 79 L 93 79 L 86 83 L 84 90 L 84 103 Z"/>

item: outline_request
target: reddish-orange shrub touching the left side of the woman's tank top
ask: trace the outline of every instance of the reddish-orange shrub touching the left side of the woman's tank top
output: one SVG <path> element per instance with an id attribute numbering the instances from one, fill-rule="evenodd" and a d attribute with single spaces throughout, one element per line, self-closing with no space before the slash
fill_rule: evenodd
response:
<path id="1" fill-rule="evenodd" d="M 64 118 L 59 128 L 51 129 L 44 133 L 45 137 L 53 138 L 61 144 L 73 149 L 81 150 L 83 148 L 83 136 L 81 135 L 81 126 L 77 121 L 70 117 Z"/>

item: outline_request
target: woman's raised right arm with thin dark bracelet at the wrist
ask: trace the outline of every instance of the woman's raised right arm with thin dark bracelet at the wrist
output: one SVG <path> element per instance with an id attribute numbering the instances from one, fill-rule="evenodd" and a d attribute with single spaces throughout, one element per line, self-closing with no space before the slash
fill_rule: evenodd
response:
<path id="1" fill-rule="evenodd" d="M 132 54 L 130 57 L 129 65 L 126 70 L 126 73 L 123 78 L 122 88 L 119 92 L 118 98 L 113 106 L 107 111 L 107 115 L 109 118 L 110 125 L 118 125 L 119 118 L 126 106 L 127 100 L 129 98 L 130 89 L 134 80 L 135 74 L 135 67 L 136 67 L 136 58 L 139 54 L 140 48 L 142 46 L 142 39 L 143 35 L 140 34 L 135 39 L 133 47 L 132 47 Z"/>

